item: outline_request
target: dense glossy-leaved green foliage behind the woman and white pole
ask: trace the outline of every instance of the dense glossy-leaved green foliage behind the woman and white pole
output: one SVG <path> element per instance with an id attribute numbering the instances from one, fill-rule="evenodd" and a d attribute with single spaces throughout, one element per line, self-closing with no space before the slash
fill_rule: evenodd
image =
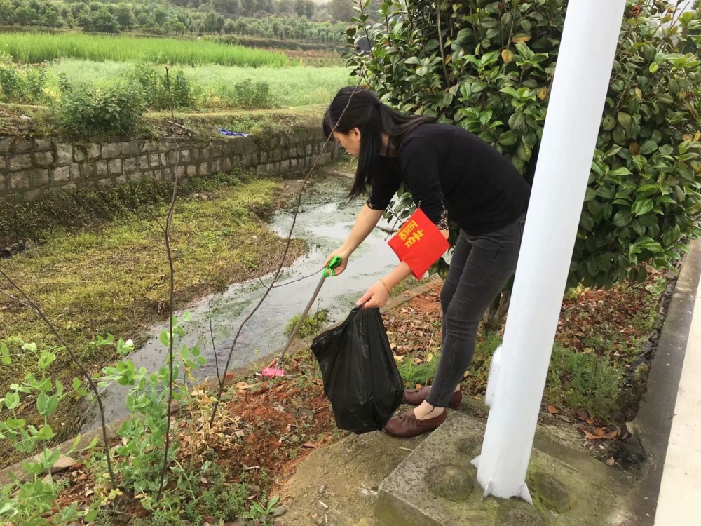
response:
<path id="1" fill-rule="evenodd" d="M 358 8 L 349 41 L 374 41 L 351 57 L 383 101 L 457 123 L 533 173 L 564 0 L 456 4 L 386 1 L 380 24 Z M 697 11 L 630 3 L 606 99 L 571 266 L 571 283 L 646 277 L 700 234 L 701 39 Z M 693 53 L 679 53 L 681 48 Z M 573 130 L 576 133 L 576 130 Z M 565 176 L 565 175 L 563 175 Z M 407 214 L 409 196 L 398 198 Z M 444 270 L 442 262 L 437 269 Z"/>

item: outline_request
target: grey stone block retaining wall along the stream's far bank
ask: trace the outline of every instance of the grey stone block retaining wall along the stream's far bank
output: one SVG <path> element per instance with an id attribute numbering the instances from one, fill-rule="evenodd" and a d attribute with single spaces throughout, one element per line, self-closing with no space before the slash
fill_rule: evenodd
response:
<path id="1" fill-rule="evenodd" d="M 245 168 L 278 175 L 301 172 L 318 154 L 320 162 L 336 159 L 338 149 L 320 130 L 293 130 L 259 143 L 252 137 L 226 137 L 209 142 L 164 137 L 67 143 L 26 137 L 0 137 L 0 196 L 21 194 L 32 200 L 60 189 L 112 187 L 173 175 L 207 177 Z M 323 150 L 323 151 L 322 151 Z"/>

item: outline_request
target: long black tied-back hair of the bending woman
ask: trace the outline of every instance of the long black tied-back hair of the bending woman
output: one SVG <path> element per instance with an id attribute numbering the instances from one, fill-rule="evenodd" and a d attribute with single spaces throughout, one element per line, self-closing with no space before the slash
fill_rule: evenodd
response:
<path id="1" fill-rule="evenodd" d="M 341 88 L 324 116 L 324 134 L 328 138 L 334 131 L 348 133 L 360 130 L 360 155 L 355 181 L 349 192 L 351 199 L 365 194 L 369 184 L 378 175 L 382 158 L 382 134 L 390 142 L 388 149 L 399 151 L 407 136 L 416 126 L 434 123 L 426 116 L 407 115 L 380 102 L 377 95 L 367 88 Z"/>

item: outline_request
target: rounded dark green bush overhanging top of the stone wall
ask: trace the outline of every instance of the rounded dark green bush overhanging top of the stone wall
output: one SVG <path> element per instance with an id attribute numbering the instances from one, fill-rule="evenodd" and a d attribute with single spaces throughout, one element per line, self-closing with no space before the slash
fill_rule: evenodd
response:
<path id="1" fill-rule="evenodd" d="M 63 94 L 55 119 L 70 135 L 128 135 L 144 114 L 144 92 L 137 83 L 109 88 L 76 86 Z"/>

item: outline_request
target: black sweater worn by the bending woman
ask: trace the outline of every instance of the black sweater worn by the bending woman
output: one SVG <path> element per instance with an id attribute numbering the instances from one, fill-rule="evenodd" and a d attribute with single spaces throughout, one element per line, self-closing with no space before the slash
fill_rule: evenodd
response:
<path id="1" fill-rule="evenodd" d="M 383 159 L 367 205 L 385 210 L 400 184 L 440 229 L 447 215 L 478 236 L 511 224 L 528 208 L 531 187 L 484 140 L 449 124 L 422 124 L 402 142 L 395 159 Z"/>

